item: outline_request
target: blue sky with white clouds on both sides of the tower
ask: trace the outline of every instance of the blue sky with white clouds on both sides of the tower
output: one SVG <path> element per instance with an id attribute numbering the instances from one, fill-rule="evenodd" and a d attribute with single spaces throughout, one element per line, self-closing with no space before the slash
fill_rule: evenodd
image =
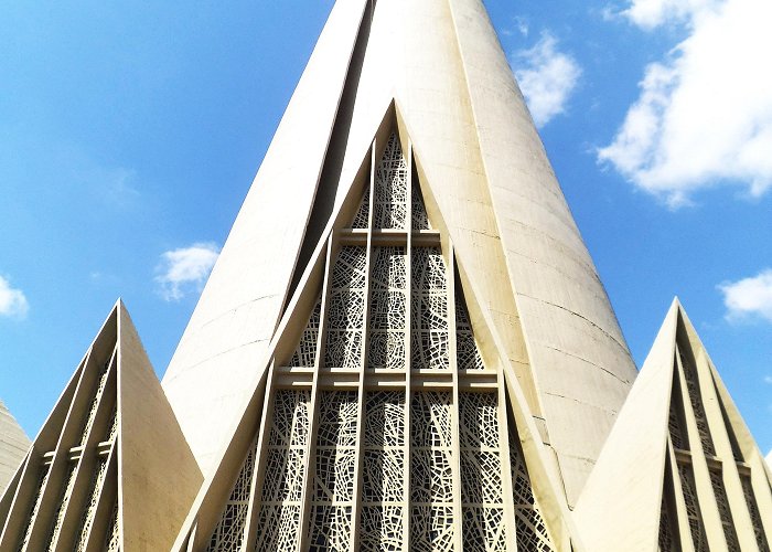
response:
<path id="1" fill-rule="evenodd" d="M 119 296 L 163 373 L 332 3 L 0 9 L 0 399 L 28 434 Z M 770 2 L 486 6 L 636 362 L 678 295 L 769 452 Z"/>

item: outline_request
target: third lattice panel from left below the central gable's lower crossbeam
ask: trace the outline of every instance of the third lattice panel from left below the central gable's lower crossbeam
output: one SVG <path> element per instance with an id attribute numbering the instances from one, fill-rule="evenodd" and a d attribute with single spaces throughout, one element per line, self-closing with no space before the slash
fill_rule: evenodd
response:
<path id="1" fill-rule="evenodd" d="M 311 503 L 312 550 L 349 550 L 356 477 L 355 391 L 319 394 L 314 491 Z"/>

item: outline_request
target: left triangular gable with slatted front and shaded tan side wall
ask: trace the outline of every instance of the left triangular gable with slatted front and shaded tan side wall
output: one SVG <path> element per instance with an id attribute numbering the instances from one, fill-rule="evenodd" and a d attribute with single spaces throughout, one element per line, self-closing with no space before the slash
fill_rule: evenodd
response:
<path id="1" fill-rule="evenodd" d="M 162 550 L 200 484 L 195 460 L 118 301 L 6 495 L 12 498 L 1 512 L 0 548 Z"/>

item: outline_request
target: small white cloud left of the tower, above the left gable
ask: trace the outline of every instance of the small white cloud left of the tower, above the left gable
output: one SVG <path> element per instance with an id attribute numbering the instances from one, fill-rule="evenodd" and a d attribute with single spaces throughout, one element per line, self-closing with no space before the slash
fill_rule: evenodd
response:
<path id="1" fill-rule="evenodd" d="M 161 254 L 156 272 L 161 297 L 178 301 L 192 290 L 200 291 L 219 255 L 213 243 L 194 243 Z"/>

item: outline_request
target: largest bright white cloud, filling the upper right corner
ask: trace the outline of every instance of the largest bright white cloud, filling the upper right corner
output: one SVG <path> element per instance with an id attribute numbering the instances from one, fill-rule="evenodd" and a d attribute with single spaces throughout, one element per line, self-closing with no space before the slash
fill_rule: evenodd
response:
<path id="1" fill-rule="evenodd" d="M 599 160 L 672 206 L 719 183 L 772 188 L 772 2 L 633 0 L 624 14 L 644 28 L 685 19 L 688 38 L 645 68 Z"/>

